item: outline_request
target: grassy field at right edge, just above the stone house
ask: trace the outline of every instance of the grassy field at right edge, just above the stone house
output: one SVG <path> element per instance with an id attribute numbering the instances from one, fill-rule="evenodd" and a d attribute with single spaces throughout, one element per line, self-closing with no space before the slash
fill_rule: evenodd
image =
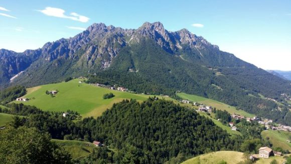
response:
<path id="1" fill-rule="evenodd" d="M 282 131 L 282 130 L 265 130 L 261 132 L 263 138 L 267 136 L 270 138 L 273 147 L 281 147 L 284 150 L 288 149 L 291 151 L 291 143 L 288 143 L 286 140 L 291 136 L 291 132 Z"/>

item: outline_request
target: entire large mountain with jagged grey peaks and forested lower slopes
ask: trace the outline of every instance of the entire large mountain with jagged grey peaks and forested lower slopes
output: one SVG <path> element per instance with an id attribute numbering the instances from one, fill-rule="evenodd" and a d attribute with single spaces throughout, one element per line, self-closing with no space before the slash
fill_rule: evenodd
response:
<path id="1" fill-rule="evenodd" d="M 35 86 L 95 74 L 101 81 L 137 92 L 174 95 L 181 90 L 259 115 L 277 104 L 258 93 L 271 98 L 291 95 L 289 81 L 220 51 L 186 29 L 167 31 L 160 22 L 134 30 L 93 24 L 73 38 L 38 50 L 0 50 L 0 59 L 2 86 Z M 280 116 L 284 120 L 286 112 Z"/>

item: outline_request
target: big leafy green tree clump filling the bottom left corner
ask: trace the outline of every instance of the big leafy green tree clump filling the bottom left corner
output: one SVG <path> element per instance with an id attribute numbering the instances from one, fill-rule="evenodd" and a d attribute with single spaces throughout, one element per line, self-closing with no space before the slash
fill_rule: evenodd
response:
<path id="1" fill-rule="evenodd" d="M 25 126 L 0 130 L 0 163 L 72 163 L 48 133 Z"/>

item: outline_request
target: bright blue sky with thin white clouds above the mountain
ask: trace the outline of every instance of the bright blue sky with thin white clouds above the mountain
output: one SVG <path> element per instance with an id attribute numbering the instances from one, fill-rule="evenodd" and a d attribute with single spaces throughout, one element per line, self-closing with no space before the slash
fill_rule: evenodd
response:
<path id="1" fill-rule="evenodd" d="M 263 69 L 291 70 L 291 1 L 2 1 L 0 49 L 22 52 L 93 23 L 186 28 Z M 193 26 L 193 24 L 196 24 Z"/>

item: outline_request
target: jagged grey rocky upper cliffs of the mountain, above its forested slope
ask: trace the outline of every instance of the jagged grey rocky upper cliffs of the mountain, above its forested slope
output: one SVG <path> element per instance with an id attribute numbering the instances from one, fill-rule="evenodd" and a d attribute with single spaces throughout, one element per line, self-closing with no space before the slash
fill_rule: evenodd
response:
<path id="1" fill-rule="evenodd" d="M 186 29 L 169 32 L 160 22 L 146 22 L 138 29 L 121 29 L 99 23 L 91 25 L 75 37 L 46 43 L 38 50 L 27 50 L 24 53 L 1 50 L 0 83 L 8 84 L 9 79 L 21 71 L 24 71 L 22 76 L 32 77 L 38 69 L 46 70 L 43 71 L 45 73 L 50 69 L 58 70 L 64 65 L 66 68 L 62 69 L 74 68 L 75 72 L 105 70 L 123 48 L 130 48 L 141 40 L 149 39 L 171 55 L 186 55 L 184 58 L 189 62 L 215 66 L 231 63 L 225 62 L 227 60 L 236 60 L 240 65 L 246 64 L 232 54 L 219 51 L 217 46 Z M 64 70 L 59 76 L 66 72 Z"/>

